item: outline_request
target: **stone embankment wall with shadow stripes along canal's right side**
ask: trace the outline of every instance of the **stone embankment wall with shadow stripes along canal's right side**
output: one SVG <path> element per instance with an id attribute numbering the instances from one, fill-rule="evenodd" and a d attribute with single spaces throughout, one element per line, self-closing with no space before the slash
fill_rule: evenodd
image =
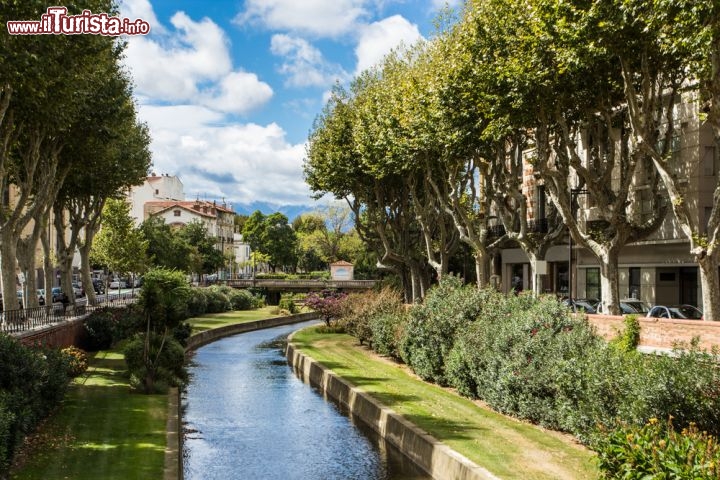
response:
<path id="1" fill-rule="evenodd" d="M 288 344 L 287 359 L 295 373 L 306 383 L 348 408 L 380 436 L 435 479 L 497 480 L 447 445 L 431 437 L 369 395 L 358 391 L 332 371 Z"/>

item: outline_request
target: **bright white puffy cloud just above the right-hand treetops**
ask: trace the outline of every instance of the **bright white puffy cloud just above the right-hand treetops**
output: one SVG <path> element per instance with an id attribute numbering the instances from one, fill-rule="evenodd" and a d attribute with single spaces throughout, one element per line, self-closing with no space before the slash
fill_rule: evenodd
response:
<path id="1" fill-rule="evenodd" d="M 417 25 L 400 15 L 393 15 L 378 22 L 365 25 L 355 48 L 358 63 L 356 73 L 379 63 L 393 48 L 409 47 L 422 38 Z"/>

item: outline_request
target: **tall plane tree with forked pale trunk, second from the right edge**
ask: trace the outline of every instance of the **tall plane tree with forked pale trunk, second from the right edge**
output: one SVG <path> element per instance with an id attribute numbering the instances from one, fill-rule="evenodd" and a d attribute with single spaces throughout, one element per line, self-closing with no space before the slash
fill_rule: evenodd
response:
<path id="1" fill-rule="evenodd" d="M 592 12 L 576 5 L 473 3 L 472 22 L 484 39 L 476 53 L 496 79 L 491 91 L 506 97 L 505 119 L 532 133 L 533 173 L 572 239 L 597 258 L 603 305 L 619 313 L 619 253 L 657 230 L 666 210 L 658 197 L 644 215 L 633 210 L 635 182 L 648 172 L 641 171 L 642 153 L 624 136 L 615 60 L 591 41 L 597 27 Z M 513 32 L 497 31 L 508 24 Z M 573 191 L 584 195 L 580 218 Z"/>

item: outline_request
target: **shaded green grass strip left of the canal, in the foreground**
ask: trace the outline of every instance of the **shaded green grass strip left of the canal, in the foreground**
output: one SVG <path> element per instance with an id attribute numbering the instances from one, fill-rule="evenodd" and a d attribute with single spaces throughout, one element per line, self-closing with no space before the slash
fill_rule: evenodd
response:
<path id="1" fill-rule="evenodd" d="M 10 478 L 162 478 L 166 422 L 167 395 L 132 393 L 122 353 L 99 352 Z"/>

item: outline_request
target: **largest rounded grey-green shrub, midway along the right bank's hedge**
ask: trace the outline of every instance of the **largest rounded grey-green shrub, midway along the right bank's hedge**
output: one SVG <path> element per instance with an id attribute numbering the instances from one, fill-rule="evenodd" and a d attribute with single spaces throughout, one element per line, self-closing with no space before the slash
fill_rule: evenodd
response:
<path id="1" fill-rule="evenodd" d="M 500 412 L 559 428 L 568 403 L 577 403 L 577 361 L 602 340 L 554 298 L 493 300 L 448 356 L 450 384 Z"/>

